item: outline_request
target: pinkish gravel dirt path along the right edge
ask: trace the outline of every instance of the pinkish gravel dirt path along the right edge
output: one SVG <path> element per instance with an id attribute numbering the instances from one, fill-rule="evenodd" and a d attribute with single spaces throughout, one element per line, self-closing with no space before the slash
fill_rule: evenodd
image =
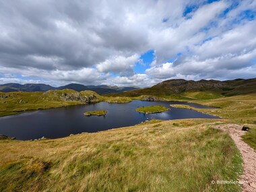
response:
<path id="1" fill-rule="evenodd" d="M 243 142 L 241 136 L 246 132 L 242 131 L 242 127 L 234 124 L 228 124 L 224 126 L 217 126 L 216 128 L 228 132 L 236 146 L 240 150 L 243 156 L 243 169 L 244 173 L 241 177 L 243 184 L 243 191 L 255 192 L 256 191 L 256 152 L 248 144 Z"/>

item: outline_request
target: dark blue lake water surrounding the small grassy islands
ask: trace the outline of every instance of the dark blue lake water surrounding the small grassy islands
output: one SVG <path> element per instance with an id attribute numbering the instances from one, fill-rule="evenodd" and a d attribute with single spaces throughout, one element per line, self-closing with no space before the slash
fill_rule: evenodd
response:
<path id="1" fill-rule="evenodd" d="M 135 111 L 137 107 L 149 105 L 164 105 L 170 111 L 154 114 L 143 114 Z M 0 117 L 0 134 L 15 137 L 18 140 L 30 140 L 36 138 L 61 138 L 70 134 L 81 132 L 98 132 L 124 126 L 133 126 L 148 119 L 187 119 L 187 118 L 212 118 L 189 109 L 177 109 L 170 107 L 170 104 L 187 104 L 197 108 L 210 108 L 195 103 L 166 102 L 166 101 L 132 101 L 131 103 L 96 103 L 90 105 L 77 105 L 47 109 Z M 106 109 L 106 116 L 86 117 L 84 112 Z"/>

